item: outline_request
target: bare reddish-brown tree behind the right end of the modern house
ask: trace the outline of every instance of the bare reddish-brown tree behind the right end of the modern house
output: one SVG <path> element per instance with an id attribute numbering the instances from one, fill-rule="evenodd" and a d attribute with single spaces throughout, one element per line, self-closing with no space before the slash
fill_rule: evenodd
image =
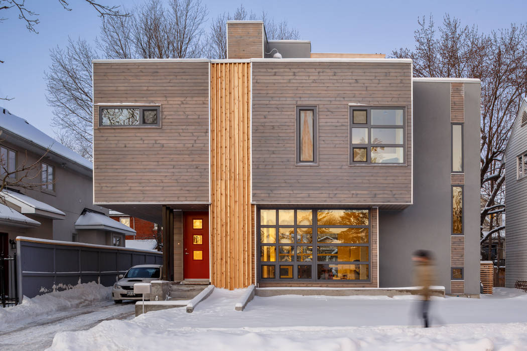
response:
<path id="1" fill-rule="evenodd" d="M 527 27 L 512 24 L 489 34 L 462 26 L 445 15 L 435 27 L 430 16 L 418 20 L 415 48 L 401 48 L 394 57 L 412 58 L 416 77 L 469 77 L 481 79 L 481 241 L 501 236 L 505 226 L 505 146 L 512 124 L 527 92 Z"/>

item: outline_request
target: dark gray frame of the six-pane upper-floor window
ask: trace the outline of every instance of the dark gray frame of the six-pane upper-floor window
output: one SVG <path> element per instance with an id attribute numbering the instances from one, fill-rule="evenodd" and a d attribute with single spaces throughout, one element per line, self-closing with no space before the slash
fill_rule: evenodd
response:
<path id="1" fill-rule="evenodd" d="M 382 109 L 389 109 L 389 110 L 402 110 L 403 111 L 403 121 L 402 124 L 395 124 L 395 125 L 380 125 L 380 124 L 372 124 L 372 110 L 382 110 Z M 363 115 L 361 114 L 361 121 L 355 121 L 354 120 L 354 112 L 366 112 L 366 123 L 363 123 Z M 372 164 L 372 165 L 403 165 L 406 163 L 406 109 L 404 107 L 350 107 L 349 108 L 349 144 L 350 144 L 350 164 Z M 365 140 L 365 143 L 353 143 L 353 135 L 354 135 L 354 128 L 355 129 L 367 129 L 367 141 Z M 402 129 L 403 130 L 403 137 L 402 137 L 402 143 L 401 144 L 388 144 L 388 143 L 374 143 L 372 139 L 372 129 Z M 372 152 L 374 148 L 402 148 L 402 162 L 391 162 L 391 163 L 383 163 L 383 162 L 372 162 Z M 366 157 L 364 158 L 364 153 L 366 153 Z M 359 158 L 357 158 L 359 157 Z"/>

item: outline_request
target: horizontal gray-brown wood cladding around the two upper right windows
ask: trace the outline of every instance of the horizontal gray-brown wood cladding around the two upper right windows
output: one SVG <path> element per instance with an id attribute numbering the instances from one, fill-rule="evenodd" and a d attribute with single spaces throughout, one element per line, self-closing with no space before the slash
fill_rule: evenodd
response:
<path id="1" fill-rule="evenodd" d="M 411 203 L 411 64 L 252 65 L 253 202 Z M 348 104 L 405 108 L 404 165 L 350 165 Z M 318 165 L 296 165 L 296 106 L 317 106 Z"/>

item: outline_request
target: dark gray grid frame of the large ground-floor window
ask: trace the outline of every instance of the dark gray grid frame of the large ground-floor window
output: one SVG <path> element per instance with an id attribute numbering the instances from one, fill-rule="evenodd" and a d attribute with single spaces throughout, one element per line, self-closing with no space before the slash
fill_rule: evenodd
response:
<path id="1" fill-rule="evenodd" d="M 260 210 L 276 210 L 276 218 L 275 218 L 275 225 L 264 225 L 260 224 Z M 354 226 L 345 226 L 345 225 L 318 225 L 317 222 L 317 211 L 321 209 L 335 209 L 335 210 L 368 210 L 368 225 L 367 226 L 360 226 L 360 225 L 354 225 Z M 279 210 L 295 210 L 294 213 L 294 224 L 293 225 L 280 225 L 279 224 Z M 311 225 L 298 225 L 297 224 L 297 210 L 311 210 L 311 215 L 313 216 L 311 218 Z M 314 284 L 364 284 L 364 283 L 372 283 L 373 282 L 373 271 L 372 271 L 372 208 L 367 207 L 361 207 L 361 208 L 349 208 L 349 207 L 339 207 L 339 208 L 327 208 L 327 207 L 309 207 L 309 208 L 299 208 L 299 207 L 262 207 L 257 209 L 257 230 L 256 230 L 256 242 L 257 242 L 257 250 L 256 250 L 256 263 L 257 263 L 257 282 L 260 283 L 298 283 L 298 282 L 306 282 L 306 283 L 314 283 Z M 330 228 L 368 228 L 368 243 L 366 244 L 334 244 L 334 243 L 328 243 L 328 244 L 321 244 L 320 246 L 367 246 L 368 247 L 368 261 L 367 262 L 345 262 L 345 261 L 318 261 L 316 260 L 317 257 L 317 248 L 319 246 L 318 240 L 317 240 L 317 232 L 318 227 L 330 227 Z M 275 237 L 275 243 L 261 243 L 260 240 L 260 231 L 261 228 L 276 228 L 276 237 Z M 294 228 L 295 234 L 293 243 L 282 243 L 279 242 L 279 228 Z M 298 243 L 297 242 L 297 229 L 298 228 L 312 228 L 313 233 L 313 241 L 311 243 Z M 276 260 L 274 262 L 270 261 L 261 261 L 261 247 L 262 246 L 272 246 L 276 247 Z M 292 246 L 293 250 L 293 260 L 292 261 L 280 261 L 279 260 L 279 247 L 280 246 Z M 296 255 L 297 255 L 297 247 L 298 246 L 311 246 L 313 248 L 312 258 L 311 261 L 297 261 Z M 319 264 L 345 264 L 345 265 L 367 265 L 368 266 L 368 279 L 318 279 L 317 272 Z M 282 266 L 293 266 L 293 278 L 280 278 L 280 265 Z M 298 266 L 304 266 L 304 265 L 310 265 L 311 266 L 311 278 L 298 278 Z M 275 278 L 262 278 L 262 266 L 275 266 Z"/>

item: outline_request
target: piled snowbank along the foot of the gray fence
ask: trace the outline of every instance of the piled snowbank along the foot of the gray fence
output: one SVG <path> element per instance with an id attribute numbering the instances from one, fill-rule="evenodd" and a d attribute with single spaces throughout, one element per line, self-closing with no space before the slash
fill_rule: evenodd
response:
<path id="1" fill-rule="evenodd" d="M 69 290 L 39 295 L 33 298 L 24 296 L 22 304 L 0 308 L 0 326 L 7 326 L 23 320 L 52 314 L 59 310 L 82 307 L 111 299 L 112 287 L 102 286 L 95 282 L 79 284 Z"/>

